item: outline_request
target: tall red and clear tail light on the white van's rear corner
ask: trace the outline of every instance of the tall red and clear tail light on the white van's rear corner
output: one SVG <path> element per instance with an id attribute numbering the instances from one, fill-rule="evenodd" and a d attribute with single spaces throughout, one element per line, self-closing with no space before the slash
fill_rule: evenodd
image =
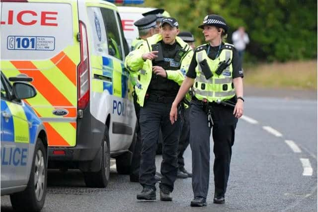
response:
<path id="1" fill-rule="evenodd" d="M 89 102 L 89 57 L 86 26 L 79 21 L 80 63 L 78 66 L 78 109 L 85 109 Z"/>

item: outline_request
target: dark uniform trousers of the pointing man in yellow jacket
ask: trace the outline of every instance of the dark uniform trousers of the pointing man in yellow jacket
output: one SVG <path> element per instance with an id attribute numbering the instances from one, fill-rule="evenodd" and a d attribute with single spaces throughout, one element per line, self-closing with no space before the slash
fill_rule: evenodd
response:
<path id="1" fill-rule="evenodd" d="M 173 184 L 177 177 L 177 149 L 180 137 L 181 120 L 178 114 L 177 121 L 171 125 L 169 113 L 172 99 L 168 103 L 145 99 L 144 107 L 140 109 L 140 130 L 142 151 L 140 161 L 139 183 L 156 190 L 156 148 L 159 137 L 159 128 L 162 132 L 162 162 L 161 182 L 159 188 L 173 191 Z"/>

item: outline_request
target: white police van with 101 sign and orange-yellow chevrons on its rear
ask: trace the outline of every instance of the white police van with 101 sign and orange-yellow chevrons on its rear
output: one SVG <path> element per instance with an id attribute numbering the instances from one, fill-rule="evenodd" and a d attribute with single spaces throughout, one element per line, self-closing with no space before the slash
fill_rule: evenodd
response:
<path id="1" fill-rule="evenodd" d="M 77 168 L 106 187 L 110 157 L 129 173 L 136 115 L 128 46 L 117 7 L 104 0 L 1 1 L 1 70 L 26 74 L 28 103 L 48 134 L 49 168 Z"/>

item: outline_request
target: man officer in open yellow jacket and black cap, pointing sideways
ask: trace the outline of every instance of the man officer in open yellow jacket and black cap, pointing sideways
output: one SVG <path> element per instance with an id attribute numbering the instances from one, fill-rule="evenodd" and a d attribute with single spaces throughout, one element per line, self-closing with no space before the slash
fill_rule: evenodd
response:
<path id="1" fill-rule="evenodd" d="M 143 190 L 138 200 L 156 200 L 156 146 L 163 135 L 160 200 L 172 201 L 171 192 L 177 175 L 177 147 L 180 137 L 179 120 L 171 125 L 169 112 L 179 86 L 188 69 L 192 50 L 179 37 L 178 22 L 164 18 L 160 33 L 148 38 L 137 50 L 126 57 L 126 67 L 140 72 L 140 87 L 135 87 L 140 109 L 142 152 L 139 182 Z"/>

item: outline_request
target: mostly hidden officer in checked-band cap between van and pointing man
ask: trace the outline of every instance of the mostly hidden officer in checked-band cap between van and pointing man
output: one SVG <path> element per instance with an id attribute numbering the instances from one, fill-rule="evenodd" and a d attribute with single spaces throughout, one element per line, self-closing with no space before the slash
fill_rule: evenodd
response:
<path id="1" fill-rule="evenodd" d="M 137 20 L 134 25 L 138 27 L 139 38 L 133 41 L 132 49 L 138 49 L 143 42 L 155 34 L 155 27 L 156 27 L 156 15 L 147 15 L 139 20 Z M 139 71 L 131 72 L 131 81 L 134 86 L 141 86 L 138 80 Z M 130 181 L 131 182 L 139 182 L 139 167 L 140 167 L 140 153 L 141 153 L 141 135 L 140 135 L 140 127 L 139 127 L 139 111 L 140 105 L 137 103 L 137 95 L 136 92 L 133 92 L 134 96 L 134 105 L 135 105 L 135 112 L 137 117 L 137 126 L 136 126 L 136 133 L 137 133 L 137 140 L 134 146 L 132 162 L 130 166 Z M 160 176 L 156 175 L 156 180 L 160 180 Z"/>

